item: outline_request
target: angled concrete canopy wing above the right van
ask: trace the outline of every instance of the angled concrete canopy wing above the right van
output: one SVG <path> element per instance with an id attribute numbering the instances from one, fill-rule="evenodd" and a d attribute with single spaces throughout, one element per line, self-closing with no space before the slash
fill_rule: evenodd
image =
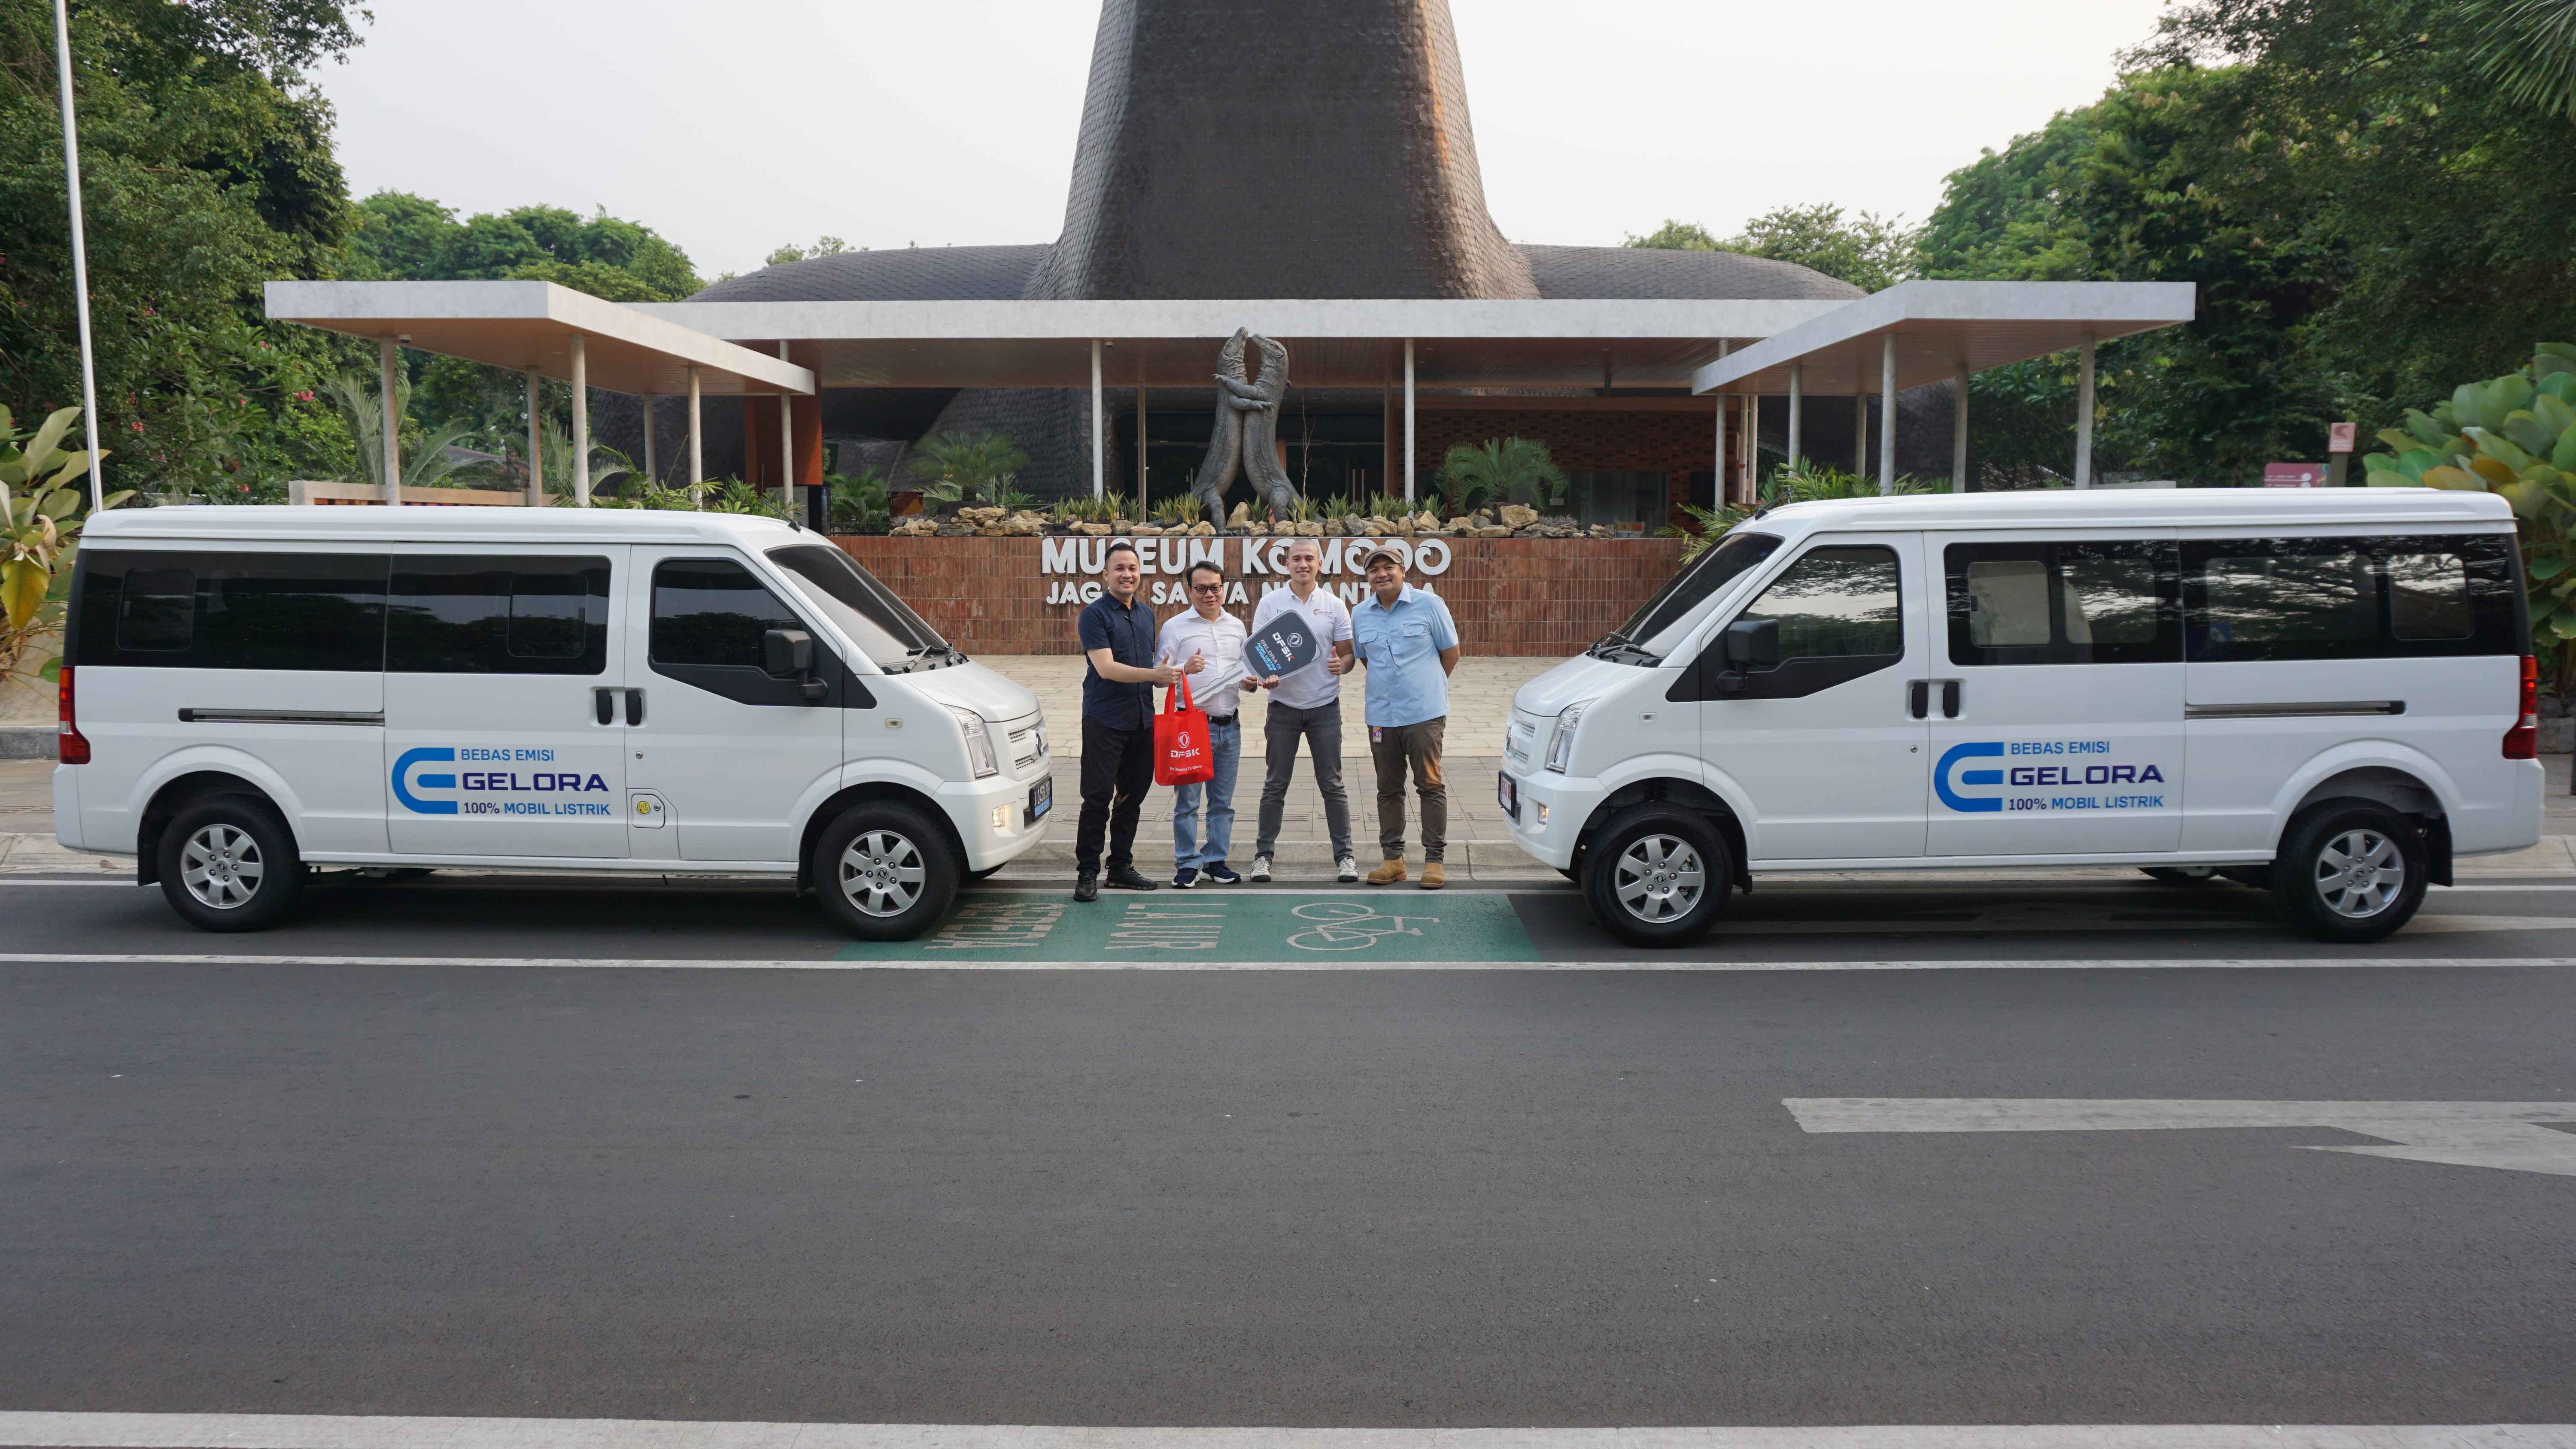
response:
<path id="1" fill-rule="evenodd" d="M 1703 365 L 1692 391 L 1785 394 L 1803 363 L 1811 396 L 1875 394 L 1883 337 L 1896 337 L 1896 389 L 2045 358 L 2192 319 L 2192 283 L 1909 281 L 1788 327 Z"/>

